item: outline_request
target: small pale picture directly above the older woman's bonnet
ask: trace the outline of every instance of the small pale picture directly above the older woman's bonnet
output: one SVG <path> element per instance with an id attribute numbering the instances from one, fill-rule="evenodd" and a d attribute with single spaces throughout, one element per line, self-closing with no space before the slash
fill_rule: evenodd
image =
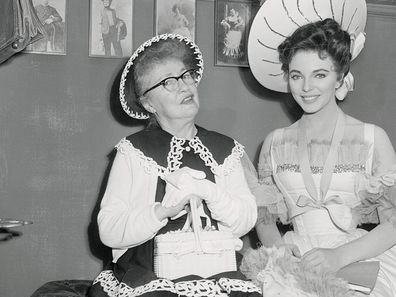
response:
<path id="1" fill-rule="evenodd" d="M 155 34 L 177 33 L 195 40 L 196 0 L 156 0 Z"/>

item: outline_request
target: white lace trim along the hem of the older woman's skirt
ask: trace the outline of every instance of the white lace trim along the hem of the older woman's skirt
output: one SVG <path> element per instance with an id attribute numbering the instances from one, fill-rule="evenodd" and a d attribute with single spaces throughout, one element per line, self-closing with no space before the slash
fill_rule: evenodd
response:
<path id="1" fill-rule="evenodd" d="M 221 278 L 218 282 L 201 279 L 177 283 L 168 279 L 156 279 L 132 288 L 125 283 L 119 283 L 111 270 L 102 271 L 93 282 L 93 284 L 96 283 L 100 283 L 109 297 L 134 297 L 156 291 L 168 291 L 187 297 L 227 297 L 233 291 L 261 294 L 260 288 L 252 282 L 229 278 Z"/>

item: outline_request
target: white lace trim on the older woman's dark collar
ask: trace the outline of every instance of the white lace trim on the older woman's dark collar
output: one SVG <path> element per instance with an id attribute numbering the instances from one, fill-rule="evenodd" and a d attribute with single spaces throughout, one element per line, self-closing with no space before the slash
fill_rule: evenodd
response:
<path id="1" fill-rule="evenodd" d="M 186 142 L 188 146 L 183 147 Z M 164 179 L 166 174 L 180 168 L 182 165 L 180 160 L 183 158 L 183 151 L 190 151 L 191 148 L 194 150 L 194 153 L 198 154 L 201 160 L 205 162 L 205 166 L 208 166 L 213 174 L 219 175 L 222 172 L 224 175 L 228 175 L 234 170 L 235 165 L 240 161 L 245 152 L 243 145 L 239 142 L 234 140 L 234 144 L 235 146 L 232 148 L 231 154 L 224 160 L 223 164 L 219 165 L 213 158 L 209 149 L 197 136 L 189 141 L 173 136 L 167 156 L 168 164 L 166 168 L 160 166 L 153 158 L 144 155 L 141 150 L 135 148 L 126 138 L 121 139 L 116 145 L 116 148 L 121 153 L 126 153 L 127 150 L 132 151 L 140 160 L 140 165 L 144 168 L 146 173 L 157 174 Z"/>

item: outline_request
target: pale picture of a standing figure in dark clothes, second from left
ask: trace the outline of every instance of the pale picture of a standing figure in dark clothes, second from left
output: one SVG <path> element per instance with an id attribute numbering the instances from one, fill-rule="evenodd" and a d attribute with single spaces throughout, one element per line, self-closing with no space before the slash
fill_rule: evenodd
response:
<path id="1" fill-rule="evenodd" d="M 89 56 L 131 56 L 132 15 L 132 0 L 90 0 Z"/>

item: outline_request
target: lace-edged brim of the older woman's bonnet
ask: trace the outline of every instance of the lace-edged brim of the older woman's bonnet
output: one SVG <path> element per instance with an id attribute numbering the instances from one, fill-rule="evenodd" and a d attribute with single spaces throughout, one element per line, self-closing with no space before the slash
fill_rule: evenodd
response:
<path id="1" fill-rule="evenodd" d="M 170 34 L 170 33 L 161 34 L 152 37 L 151 39 L 144 42 L 135 50 L 133 55 L 129 58 L 128 62 L 126 63 L 121 75 L 120 89 L 119 89 L 121 106 L 124 109 L 124 111 L 132 118 L 138 120 L 146 120 L 149 118 L 149 113 L 140 104 L 138 104 L 137 100 L 139 99 L 135 98 L 136 96 L 134 92 L 133 77 L 131 77 L 133 71 L 131 71 L 131 75 L 129 75 L 130 74 L 129 70 L 131 69 L 134 60 L 139 56 L 139 54 L 141 54 L 145 49 L 149 48 L 152 44 L 166 39 L 179 40 L 180 42 L 184 42 L 191 49 L 191 55 L 194 55 L 198 67 L 197 79 L 196 79 L 197 84 L 202 78 L 202 74 L 203 74 L 202 53 L 199 50 L 198 46 L 192 40 L 179 34 Z"/>

